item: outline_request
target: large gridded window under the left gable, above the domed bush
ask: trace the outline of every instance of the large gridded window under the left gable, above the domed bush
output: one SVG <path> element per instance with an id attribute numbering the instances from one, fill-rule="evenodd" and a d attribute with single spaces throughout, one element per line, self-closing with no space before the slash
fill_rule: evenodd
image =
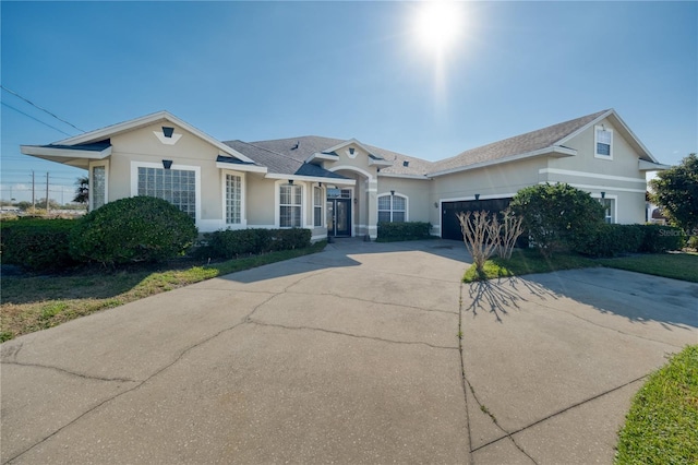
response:
<path id="1" fill-rule="evenodd" d="M 139 167 L 139 195 L 163 199 L 196 219 L 196 172 Z"/>

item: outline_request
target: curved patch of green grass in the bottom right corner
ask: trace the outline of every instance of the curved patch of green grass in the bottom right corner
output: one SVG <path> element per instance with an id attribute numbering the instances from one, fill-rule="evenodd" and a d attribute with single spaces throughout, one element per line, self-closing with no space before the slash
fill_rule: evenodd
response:
<path id="1" fill-rule="evenodd" d="M 698 463 L 698 345 L 650 375 L 618 437 L 616 464 Z"/>

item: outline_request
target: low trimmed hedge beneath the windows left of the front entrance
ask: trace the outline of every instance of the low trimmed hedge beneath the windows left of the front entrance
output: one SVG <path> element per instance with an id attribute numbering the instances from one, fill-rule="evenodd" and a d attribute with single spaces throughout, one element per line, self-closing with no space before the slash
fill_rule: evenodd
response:
<path id="1" fill-rule="evenodd" d="M 310 229 L 225 229 L 204 234 L 206 246 L 195 252 L 202 258 L 234 259 L 278 250 L 310 247 Z"/>

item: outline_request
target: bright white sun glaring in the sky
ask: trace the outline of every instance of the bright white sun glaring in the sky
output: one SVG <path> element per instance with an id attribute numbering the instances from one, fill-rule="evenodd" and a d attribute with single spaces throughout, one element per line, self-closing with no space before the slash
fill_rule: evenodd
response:
<path id="1" fill-rule="evenodd" d="M 419 40 L 432 50 L 444 51 L 461 29 L 459 4 L 448 0 L 431 0 L 422 3 L 417 16 Z"/>

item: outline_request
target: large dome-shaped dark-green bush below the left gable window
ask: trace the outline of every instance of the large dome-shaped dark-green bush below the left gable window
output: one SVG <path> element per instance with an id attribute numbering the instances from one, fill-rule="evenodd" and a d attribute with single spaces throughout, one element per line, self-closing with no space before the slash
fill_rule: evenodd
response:
<path id="1" fill-rule="evenodd" d="M 157 262 L 182 254 L 194 243 L 192 218 L 152 196 L 110 202 L 85 215 L 70 237 L 71 255 L 105 265 Z"/>

